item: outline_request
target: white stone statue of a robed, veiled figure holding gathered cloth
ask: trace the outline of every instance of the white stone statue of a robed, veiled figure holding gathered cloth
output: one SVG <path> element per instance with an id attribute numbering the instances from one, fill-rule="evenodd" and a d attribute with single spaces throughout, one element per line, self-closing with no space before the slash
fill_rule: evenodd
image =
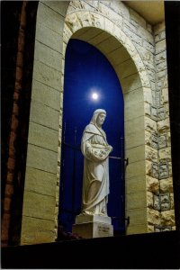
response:
<path id="1" fill-rule="evenodd" d="M 94 111 L 93 118 L 85 127 L 81 150 L 84 155 L 84 176 L 82 214 L 107 216 L 109 194 L 109 154 L 108 145 L 102 130 L 106 112 Z"/>

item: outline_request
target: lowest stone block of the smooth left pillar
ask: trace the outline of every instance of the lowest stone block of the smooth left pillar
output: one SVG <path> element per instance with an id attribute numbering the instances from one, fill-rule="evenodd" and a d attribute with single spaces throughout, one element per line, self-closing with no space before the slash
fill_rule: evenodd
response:
<path id="1" fill-rule="evenodd" d="M 54 220 L 42 220 L 23 216 L 21 245 L 54 242 Z"/>

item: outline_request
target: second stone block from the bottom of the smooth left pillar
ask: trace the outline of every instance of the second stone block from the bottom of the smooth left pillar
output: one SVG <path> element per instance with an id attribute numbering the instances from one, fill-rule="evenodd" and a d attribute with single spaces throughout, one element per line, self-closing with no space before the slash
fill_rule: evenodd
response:
<path id="1" fill-rule="evenodd" d="M 24 191 L 23 215 L 36 219 L 54 221 L 55 194 L 54 196 Z"/>

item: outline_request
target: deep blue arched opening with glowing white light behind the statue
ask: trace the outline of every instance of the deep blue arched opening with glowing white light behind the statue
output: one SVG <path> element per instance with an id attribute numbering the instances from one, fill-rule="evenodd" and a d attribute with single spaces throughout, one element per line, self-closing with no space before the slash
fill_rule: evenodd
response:
<path id="1" fill-rule="evenodd" d="M 93 95 L 94 94 L 94 95 Z M 94 98 L 93 98 L 94 97 Z M 69 40 L 65 59 L 63 126 L 58 221 L 71 231 L 81 209 L 83 155 L 80 143 L 93 112 L 107 112 L 103 123 L 111 156 L 124 153 L 124 103 L 121 85 L 101 51 L 82 40 Z M 108 215 L 116 234 L 124 231 L 124 162 L 110 158 Z"/>

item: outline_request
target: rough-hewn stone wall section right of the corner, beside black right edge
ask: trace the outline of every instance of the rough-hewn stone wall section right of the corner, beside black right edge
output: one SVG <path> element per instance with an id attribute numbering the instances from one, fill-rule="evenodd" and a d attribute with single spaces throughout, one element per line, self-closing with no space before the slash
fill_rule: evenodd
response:
<path id="1" fill-rule="evenodd" d="M 148 188 L 148 229 L 162 231 L 175 229 L 173 179 L 171 170 L 171 138 L 166 69 L 165 23 L 154 27 L 156 93 L 151 117 L 157 121 L 157 130 L 152 134 L 157 160 L 152 160 L 153 180 Z M 150 210 L 151 209 L 151 210 Z"/>

